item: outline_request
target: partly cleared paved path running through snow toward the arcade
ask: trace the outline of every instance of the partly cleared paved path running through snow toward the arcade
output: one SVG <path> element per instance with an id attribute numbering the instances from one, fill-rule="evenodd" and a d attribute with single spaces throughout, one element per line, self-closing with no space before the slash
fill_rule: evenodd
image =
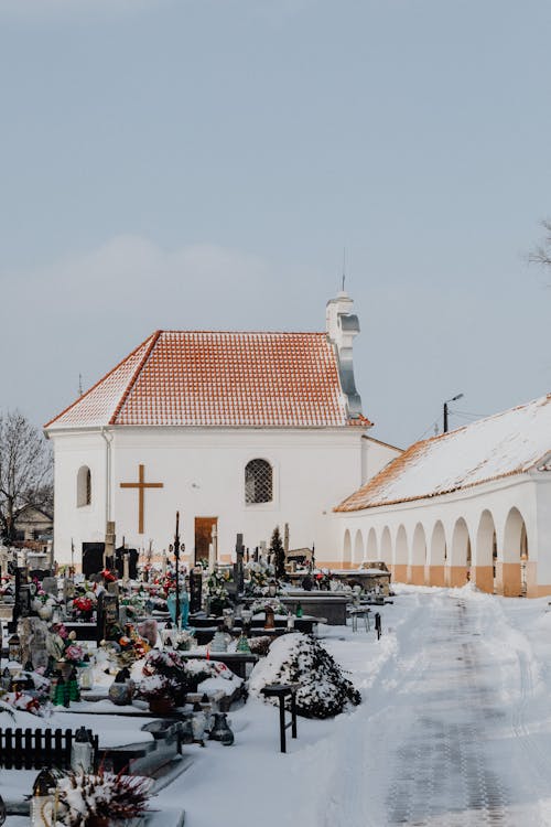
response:
<path id="1" fill-rule="evenodd" d="M 383 744 L 366 763 L 374 827 L 551 824 L 541 805 L 551 767 L 526 721 L 530 669 L 499 605 L 428 595 L 418 621 L 393 700 L 376 716 Z"/>

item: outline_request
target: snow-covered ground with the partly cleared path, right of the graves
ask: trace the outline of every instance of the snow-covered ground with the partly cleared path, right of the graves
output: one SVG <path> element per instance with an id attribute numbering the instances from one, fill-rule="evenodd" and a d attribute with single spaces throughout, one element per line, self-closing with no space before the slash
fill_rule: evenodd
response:
<path id="1" fill-rule="evenodd" d="M 549 610 L 549 611 L 548 611 Z M 160 796 L 186 827 L 551 825 L 551 606 L 401 587 L 383 636 L 323 627 L 364 704 L 299 719 L 279 753 L 277 710 L 230 715 L 236 743 L 187 748 Z"/>

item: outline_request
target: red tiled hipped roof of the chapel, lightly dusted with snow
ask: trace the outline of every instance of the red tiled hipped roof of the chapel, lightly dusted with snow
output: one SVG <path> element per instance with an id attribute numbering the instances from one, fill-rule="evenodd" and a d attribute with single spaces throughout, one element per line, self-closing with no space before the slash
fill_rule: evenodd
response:
<path id="1" fill-rule="evenodd" d="M 325 333 L 158 331 L 45 426 L 369 426 Z"/>

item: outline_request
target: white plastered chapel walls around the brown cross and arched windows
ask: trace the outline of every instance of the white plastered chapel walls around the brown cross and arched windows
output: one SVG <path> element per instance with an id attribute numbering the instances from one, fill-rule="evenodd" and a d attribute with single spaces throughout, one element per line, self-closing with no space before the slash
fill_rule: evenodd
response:
<path id="1" fill-rule="evenodd" d="M 83 541 L 102 540 L 107 512 L 122 536 L 138 549 L 168 548 L 175 513 L 181 513 L 181 539 L 194 548 L 195 517 L 218 518 L 218 548 L 228 555 L 237 533 L 252 548 L 269 541 L 276 525 L 290 526 L 291 548 L 311 547 L 316 558 L 334 565 L 342 547 L 333 531 L 333 507 L 363 482 L 361 428 L 344 429 L 186 429 L 110 428 L 110 503 L 106 503 L 107 444 L 99 431 L 51 432 L 55 454 L 55 557 L 66 562 L 71 539 L 79 560 Z M 245 503 L 245 465 L 266 459 L 273 468 L 272 503 Z M 163 488 L 144 493 L 144 533 L 138 533 L 138 492 L 121 490 L 137 482 L 139 464 L 145 482 Z M 89 506 L 76 507 L 76 477 L 88 465 L 93 479 Z"/>

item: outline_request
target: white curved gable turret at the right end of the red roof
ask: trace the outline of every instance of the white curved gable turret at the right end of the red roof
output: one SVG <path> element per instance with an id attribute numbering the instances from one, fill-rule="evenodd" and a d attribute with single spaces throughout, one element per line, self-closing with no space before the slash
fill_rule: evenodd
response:
<path id="1" fill-rule="evenodd" d="M 359 333 L 358 316 L 352 312 L 354 302 L 344 290 L 329 299 L 325 310 L 325 330 L 335 346 L 338 359 L 341 387 L 346 397 L 350 419 L 361 416 L 361 399 L 354 380 L 353 343 Z"/>

